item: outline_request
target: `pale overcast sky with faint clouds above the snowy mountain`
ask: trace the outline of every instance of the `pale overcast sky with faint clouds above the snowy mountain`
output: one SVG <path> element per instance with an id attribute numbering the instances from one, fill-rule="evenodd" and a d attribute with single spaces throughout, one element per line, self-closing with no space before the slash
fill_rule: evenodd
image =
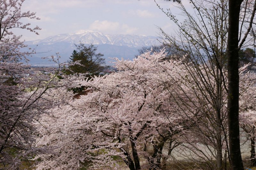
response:
<path id="1" fill-rule="evenodd" d="M 173 2 L 156 0 L 164 9 L 179 13 Z M 188 5 L 187 0 L 182 1 Z M 22 34 L 21 40 L 31 41 L 79 30 L 100 31 L 104 34 L 139 34 L 157 36 L 157 26 L 167 33 L 175 26 L 158 9 L 154 0 L 26 0 L 22 11 L 36 12 L 41 20 L 26 19 L 32 26 L 38 25 L 40 35 L 27 30 L 14 30 Z"/>

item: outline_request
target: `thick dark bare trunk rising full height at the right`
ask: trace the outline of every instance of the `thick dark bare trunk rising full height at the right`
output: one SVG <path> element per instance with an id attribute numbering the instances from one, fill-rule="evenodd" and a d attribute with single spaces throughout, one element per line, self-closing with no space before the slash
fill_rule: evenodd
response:
<path id="1" fill-rule="evenodd" d="M 244 170 L 239 134 L 238 33 L 242 0 L 228 0 L 228 133 L 229 153 L 233 170 Z"/>

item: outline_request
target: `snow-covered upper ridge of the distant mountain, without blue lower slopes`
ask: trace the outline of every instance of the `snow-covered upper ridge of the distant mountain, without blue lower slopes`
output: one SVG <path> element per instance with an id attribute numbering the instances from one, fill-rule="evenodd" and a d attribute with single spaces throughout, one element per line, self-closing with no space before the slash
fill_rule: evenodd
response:
<path id="1" fill-rule="evenodd" d="M 82 42 L 84 44 L 110 44 L 116 46 L 127 46 L 127 47 L 141 47 L 141 46 L 151 46 L 159 44 L 157 37 L 155 36 L 145 36 L 145 35 L 123 35 L 123 34 L 103 34 L 101 32 L 94 31 L 79 31 L 77 33 L 66 33 L 51 36 L 45 38 L 44 40 L 26 41 L 26 44 L 44 44 L 51 45 L 56 42 L 67 42 L 78 44 Z"/>

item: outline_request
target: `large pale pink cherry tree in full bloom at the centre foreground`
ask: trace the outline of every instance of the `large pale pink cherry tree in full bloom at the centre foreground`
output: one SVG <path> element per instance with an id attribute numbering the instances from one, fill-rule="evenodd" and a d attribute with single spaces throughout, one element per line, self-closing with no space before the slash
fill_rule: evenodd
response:
<path id="1" fill-rule="evenodd" d="M 164 166 L 161 158 L 166 161 L 171 154 L 164 155 L 164 145 L 179 145 L 175 139 L 186 121 L 156 81 L 160 77 L 155 73 L 162 72 L 156 63 L 164 52 L 150 53 L 133 61 L 116 59 L 120 72 L 84 81 L 87 95 L 40 118 L 44 126 L 39 126 L 37 144 L 54 149 L 35 158 L 42 160 L 37 169 L 119 169 L 123 164 L 118 162 L 131 170 Z"/>

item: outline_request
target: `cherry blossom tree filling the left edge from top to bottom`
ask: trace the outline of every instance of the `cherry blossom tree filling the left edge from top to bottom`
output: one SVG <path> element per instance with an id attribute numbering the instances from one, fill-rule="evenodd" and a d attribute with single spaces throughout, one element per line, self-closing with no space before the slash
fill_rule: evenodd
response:
<path id="1" fill-rule="evenodd" d="M 33 122 L 44 109 L 58 106 L 72 96 L 67 88 L 76 85 L 77 75 L 59 79 L 63 66 L 57 59 L 50 58 L 59 65 L 46 70 L 49 74 L 31 73 L 27 56 L 35 51 L 20 52 L 27 46 L 14 35 L 12 29 L 20 28 L 36 32 L 40 28 L 30 28 L 30 24 L 20 22 L 22 18 L 36 18 L 35 13 L 22 12 L 24 0 L 0 0 L 0 167 L 16 169 L 43 148 L 36 148 L 37 132 Z M 72 99 L 72 97 L 71 97 Z M 28 163 L 29 164 L 29 163 Z"/>

